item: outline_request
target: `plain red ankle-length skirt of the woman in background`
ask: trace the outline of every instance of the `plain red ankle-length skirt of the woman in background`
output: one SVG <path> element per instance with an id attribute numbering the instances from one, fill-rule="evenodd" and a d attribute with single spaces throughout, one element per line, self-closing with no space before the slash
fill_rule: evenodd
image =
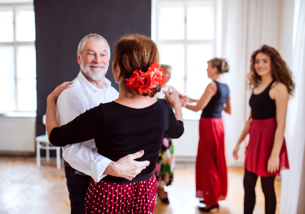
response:
<path id="1" fill-rule="evenodd" d="M 222 118 L 200 118 L 196 161 L 196 197 L 216 205 L 227 196 L 227 165 Z"/>

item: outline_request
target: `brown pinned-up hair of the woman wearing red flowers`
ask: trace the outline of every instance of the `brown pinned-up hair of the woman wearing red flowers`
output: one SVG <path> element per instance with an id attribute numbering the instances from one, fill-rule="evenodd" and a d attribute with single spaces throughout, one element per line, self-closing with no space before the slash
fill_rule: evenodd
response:
<path id="1" fill-rule="evenodd" d="M 146 72 L 153 62 L 159 64 L 159 52 L 156 43 L 144 35 L 131 34 L 121 37 L 116 42 L 113 52 L 114 66 L 120 68 L 120 76 L 123 76 L 124 79 L 129 78 L 134 70 Z M 126 81 L 124 84 L 126 85 Z M 129 87 L 127 89 L 130 90 Z M 158 85 L 141 95 L 154 97 L 160 90 L 161 86 Z"/>

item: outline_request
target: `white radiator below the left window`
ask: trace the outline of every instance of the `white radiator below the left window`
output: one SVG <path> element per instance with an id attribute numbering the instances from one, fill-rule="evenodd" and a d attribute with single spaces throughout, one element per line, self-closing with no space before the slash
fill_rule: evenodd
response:
<path id="1" fill-rule="evenodd" d="M 0 151 L 35 152 L 35 117 L 0 117 Z"/>

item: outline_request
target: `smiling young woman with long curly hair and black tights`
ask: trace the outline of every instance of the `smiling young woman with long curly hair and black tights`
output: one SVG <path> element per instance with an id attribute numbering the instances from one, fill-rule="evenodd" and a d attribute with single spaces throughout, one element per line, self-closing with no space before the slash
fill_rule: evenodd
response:
<path id="1" fill-rule="evenodd" d="M 243 179 L 244 213 L 253 213 L 256 180 L 261 176 L 265 213 L 274 214 L 275 176 L 289 169 L 284 131 L 287 103 L 294 90 L 291 71 L 276 49 L 263 45 L 253 52 L 247 86 L 253 90 L 251 113 L 233 151 L 237 159 L 239 145 L 250 133 Z"/>

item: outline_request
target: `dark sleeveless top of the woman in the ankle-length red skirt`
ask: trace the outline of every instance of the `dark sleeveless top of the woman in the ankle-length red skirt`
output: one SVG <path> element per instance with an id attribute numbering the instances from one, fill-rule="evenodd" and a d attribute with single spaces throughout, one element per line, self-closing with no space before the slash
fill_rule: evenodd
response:
<path id="1" fill-rule="evenodd" d="M 216 81 L 214 82 L 217 85 L 217 92 L 202 110 L 202 118 L 221 118 L 224 104 L 229 98 L 230 90 L 228 85 Z"/>

